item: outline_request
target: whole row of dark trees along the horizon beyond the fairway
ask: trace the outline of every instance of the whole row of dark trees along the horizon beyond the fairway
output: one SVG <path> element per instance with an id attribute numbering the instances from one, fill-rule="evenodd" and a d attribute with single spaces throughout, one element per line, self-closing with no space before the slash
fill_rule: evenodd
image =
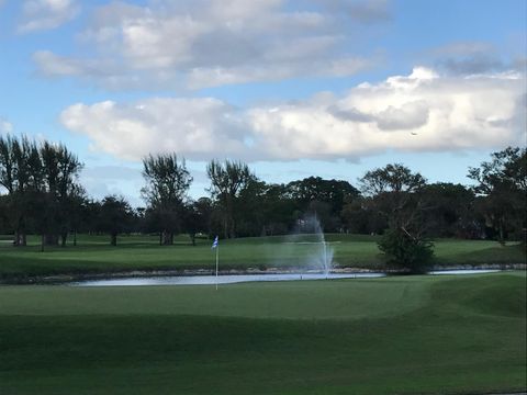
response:
<path id="1" fill-rule="evenodd" d="M 309 233 L 316 216 L 327 233 L 400 235 L 393 242 L 429 237 L 525 240 L 526 149 L 508 147 L 469 168 L 474 185 L 429 183 L 401 163 L 367 171 L 356 187 L 309 177 L 287 184 L 260 180 L 242 161 L 212 160 L 209 195 L 188 192 L 192 177 L 176 154 L 143 159 L 145 207 L 119 195 L 90 199 L 79 182 L 83 165 L 63 144 L 0 136 L 0 233 L 24 246 L 27 234 L 46 245 L 76 244 L 78 233 L 157 234 L 160 245 L 178 234 L 224 238 Z M 388 238 L 389 239 L 389 238 Z M 388 242 L 388 241 L 386 241 Z M 381 246 L 382 248 L 382 246 Z"/>

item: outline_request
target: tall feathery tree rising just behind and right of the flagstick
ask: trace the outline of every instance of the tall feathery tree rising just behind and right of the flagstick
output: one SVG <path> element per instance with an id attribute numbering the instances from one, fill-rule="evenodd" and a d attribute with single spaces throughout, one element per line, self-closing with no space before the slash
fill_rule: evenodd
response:
<path id="1" fill-rule="evenodd" d="M 210 192 L 220 203 L 225 238 L 236 237 L 235 211 L 242 191 L 246 190 L 257 178 L 246 163 L 225 160 L 221 163 L 212 160 L 206 167 L 211 180 Z"/>

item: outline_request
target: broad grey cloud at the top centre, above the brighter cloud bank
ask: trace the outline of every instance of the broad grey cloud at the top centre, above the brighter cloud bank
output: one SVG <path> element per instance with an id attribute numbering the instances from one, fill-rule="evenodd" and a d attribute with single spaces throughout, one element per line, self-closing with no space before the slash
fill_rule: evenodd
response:
<path id="1" fill-rule="evenodd" d="M 350 52 L 346 29 L 354 19 L 340 12 L 344 3 L 317 8 L 315 0 L 294 7 L 281 0 L 157 1 L 147 7 L 112 2 L 97 9 L 81 34 L 87 53 L 94 48 L 96 56 L 79 59 L 42 50 L 34 60 L 45 76 L 83 77 L 106 88 L 168 83 L 199 89 L 349 76 L 372 61 Z M 373 13 L 385 8 L 385 1 L 369 8 L 351 3 Z M 367 13 L 355 16 L 371 19 Z"/>

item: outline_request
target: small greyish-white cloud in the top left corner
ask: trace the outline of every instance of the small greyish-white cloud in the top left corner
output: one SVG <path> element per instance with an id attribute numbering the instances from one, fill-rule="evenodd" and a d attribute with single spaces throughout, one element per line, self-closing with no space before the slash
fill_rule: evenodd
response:
<path id="1" fill-rule="evenodd" d="M 30 33 L 58 27 L 77 16 L 79 10 L 77 0 L 26 0 L 18 31 Z"/>

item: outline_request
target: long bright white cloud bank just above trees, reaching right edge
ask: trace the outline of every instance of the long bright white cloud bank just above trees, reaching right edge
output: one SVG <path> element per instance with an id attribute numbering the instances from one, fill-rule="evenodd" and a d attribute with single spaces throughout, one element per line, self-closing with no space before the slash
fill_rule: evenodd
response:
<path id="1" fill-rule="evenodd" d="M 61 114 L 96 149 L 139 159 L 176 151 L 189 159 L 356 159 L 385 151 L 497 148 L 525 138 L 525 77 L 446 77 L 415 68 L 344 97 L 235 109 L 212 98 L 76 104 Z"/>

